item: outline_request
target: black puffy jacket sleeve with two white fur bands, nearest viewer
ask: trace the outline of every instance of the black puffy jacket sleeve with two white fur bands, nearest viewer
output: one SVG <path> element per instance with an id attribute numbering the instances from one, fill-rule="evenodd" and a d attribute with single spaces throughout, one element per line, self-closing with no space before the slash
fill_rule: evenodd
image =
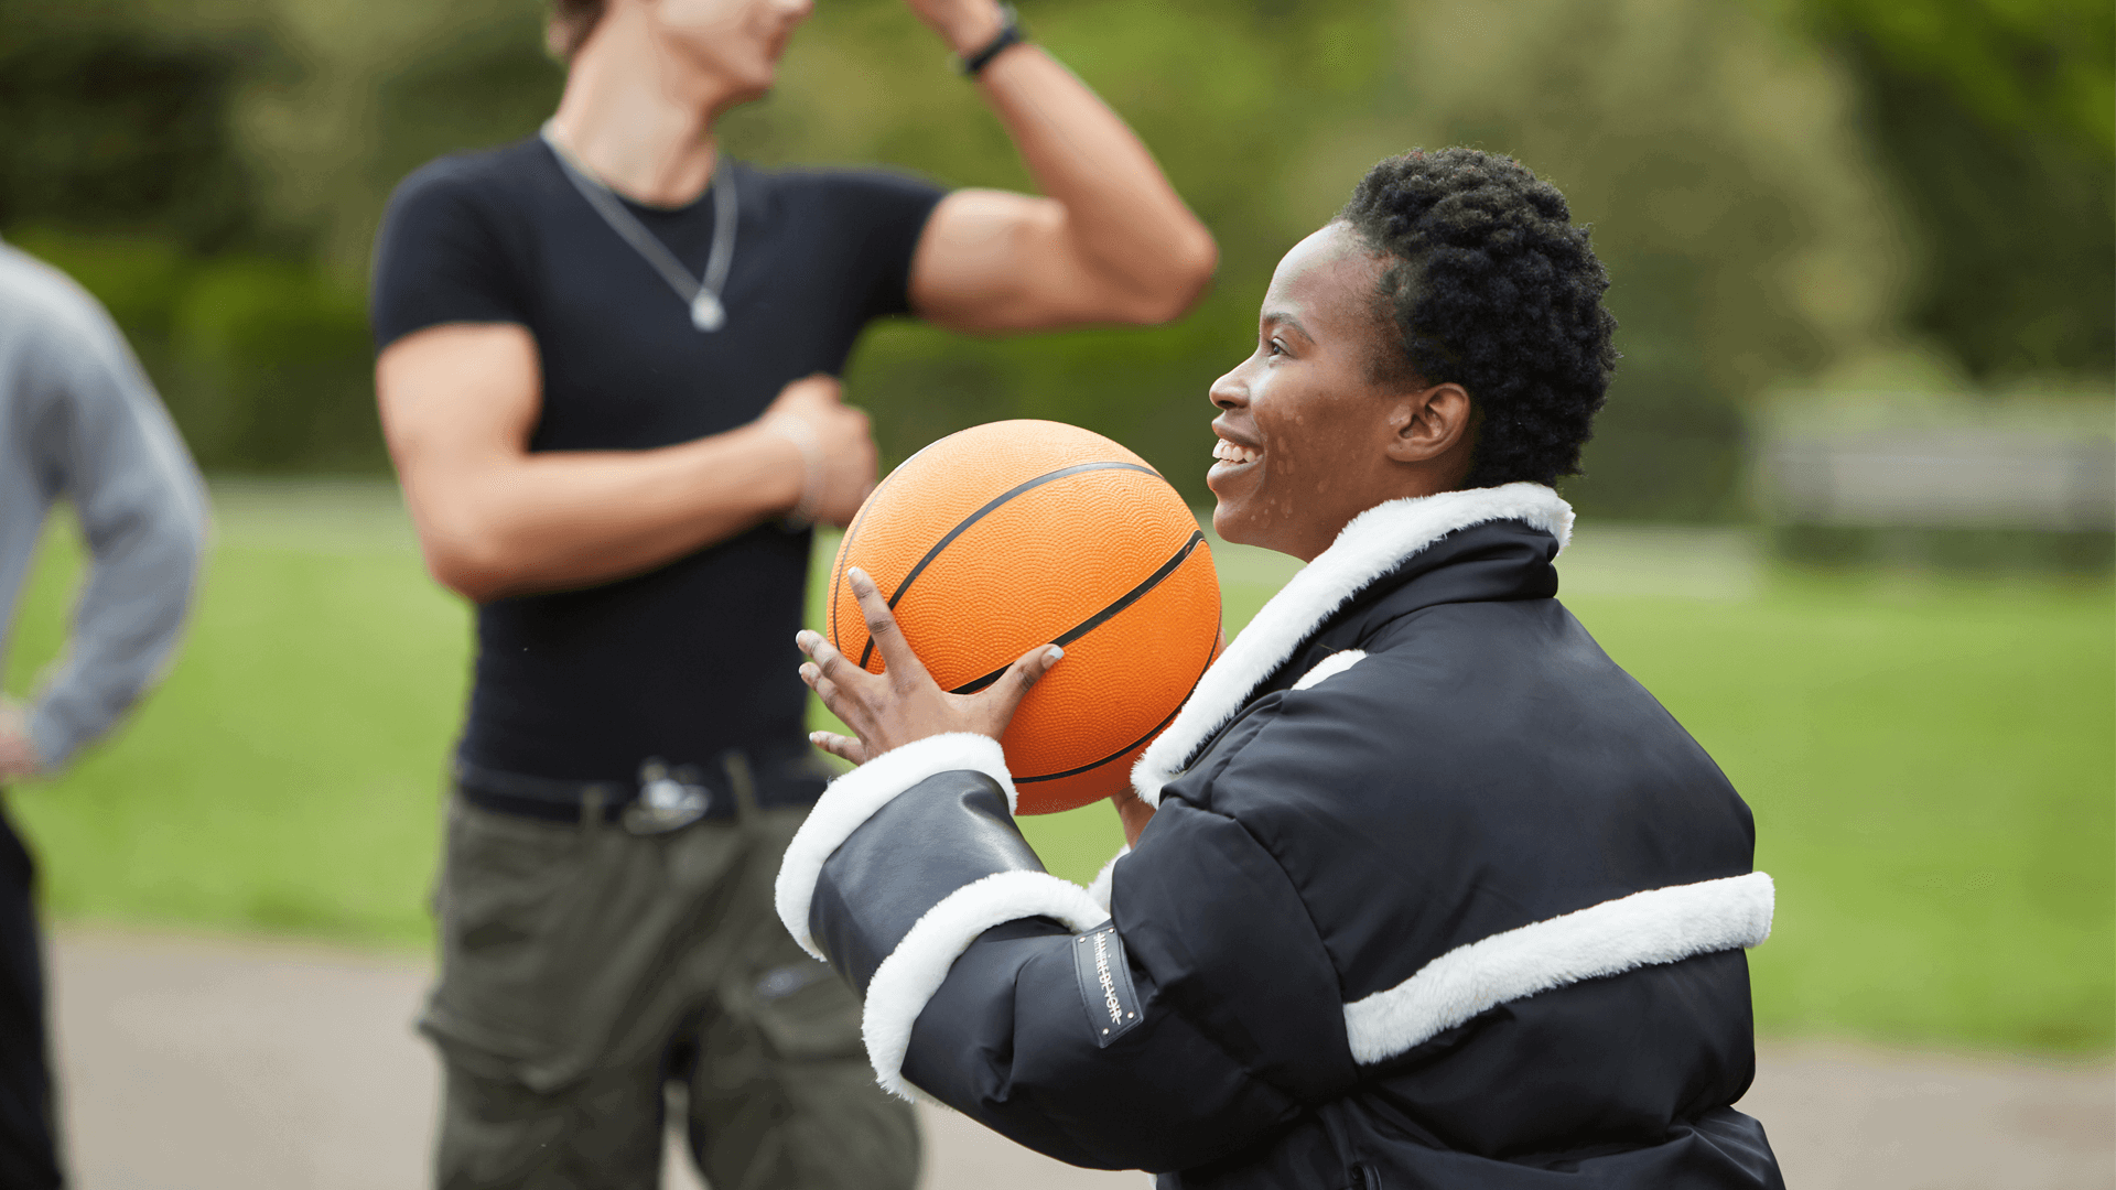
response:
<path id="1" fill-rule="evenodd" d="M 787 849 L 787 930 L 863 995 L 868 1057 L 1060 1160 L 1187 1169 L 1354 1078 L 1335 974 L 1272 855 L 1170 803 L 1115 919 L 1043 870 L 999 743 L 923 739 L 838 779 Z"/>

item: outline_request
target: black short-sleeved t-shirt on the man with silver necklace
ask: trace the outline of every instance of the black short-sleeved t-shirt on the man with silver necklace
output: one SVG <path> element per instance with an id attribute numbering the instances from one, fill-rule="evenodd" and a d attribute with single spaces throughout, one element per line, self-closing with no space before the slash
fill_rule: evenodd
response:
<path id="1" fill-rule="evenodd" d="M 527 326 L 544 368 L 533 451 L 667 447 L 755 419 L 789 381 L 842 373 L 870 320 L 908 311 L 942 191 L 863 169 L 719 169 L 741 201 L 719 330 L 692 326 L 531 138 L 398 186 L 375 248 L 377 351 L 442 322 Z M 631 205 L 694 275 L 713 208 L 711 191 Z M 808 534 L 766 525 L 637 578 L 480 606 L 463 758 L 603 781 L 645 758 L 717 773 L 730 747 L 804 754 L 791 642 L 806 574 Z"/>

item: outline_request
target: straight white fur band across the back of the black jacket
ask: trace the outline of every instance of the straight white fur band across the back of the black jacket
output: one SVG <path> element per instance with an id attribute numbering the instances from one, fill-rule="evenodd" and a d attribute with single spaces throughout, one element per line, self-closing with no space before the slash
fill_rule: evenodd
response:
<path id="1" fill-rule="evenodd" d="M 1538 991 L 1771 936 L 1771 877 L 1650 889 L 1456 946 L 1392 989 L 1344 1006 L 1352 1057 L 1378 1063 Z"/>

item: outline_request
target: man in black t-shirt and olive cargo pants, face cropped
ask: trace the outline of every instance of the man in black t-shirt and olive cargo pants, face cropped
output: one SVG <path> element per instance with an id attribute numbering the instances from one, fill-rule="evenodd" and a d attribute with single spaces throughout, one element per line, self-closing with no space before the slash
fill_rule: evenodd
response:
<path id="1" fill-rule="evenodd" d="M 910 1186 L 859 1006 L 772 913 L 821 792 L 791 639 L 806 523 L 876 479 L 834 379 L 861 328 L 1162 322 L 1217 250 L 995 0 L 908 0 L 1045 197 L 766 172 L 713 119 L 808 0 L 559 0 L 542 136 L 404 180 L 377 396 L 478 659 L 421 1016 L 442 1186 L 652 1186 L 667 1084 L 715 1186 Z"/>

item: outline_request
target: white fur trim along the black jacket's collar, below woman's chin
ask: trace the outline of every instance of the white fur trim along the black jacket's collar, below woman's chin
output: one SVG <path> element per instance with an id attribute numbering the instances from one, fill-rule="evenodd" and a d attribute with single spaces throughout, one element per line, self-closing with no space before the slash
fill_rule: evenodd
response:
<path id="1" fill-rule="evenodd" d="M 1346 599 L 1447 534 L 1490 521 L 1526 521 L 1555 536 L 1559 551 L 1572 540 L 1572 506 L 1540 483 L 1390 500 L 1352 517 L 1337 540 L 1272 595 L 1206 669 L 1176 722 L 1132 767 L 1138 796 L 1147 805 L 1162 805 L 1162 786 L 1181 771 L 1189 754 L 1225 726 L 1248 701 L 1248 692 L 1284 665 Z"/>

